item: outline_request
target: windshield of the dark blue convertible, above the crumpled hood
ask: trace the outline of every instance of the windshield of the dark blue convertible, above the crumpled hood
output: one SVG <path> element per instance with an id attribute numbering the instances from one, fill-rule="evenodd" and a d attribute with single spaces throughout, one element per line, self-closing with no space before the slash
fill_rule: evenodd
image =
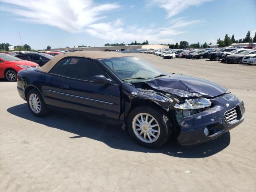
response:
<path id="1" fill-rule="evenodd" d="M 100 61 L 114 72 L 116 76 L 128 82 L 152 79 L 162 74 L 166 75 L 166 73 L 158 68 L 136 57 L 107 58 Z"/>

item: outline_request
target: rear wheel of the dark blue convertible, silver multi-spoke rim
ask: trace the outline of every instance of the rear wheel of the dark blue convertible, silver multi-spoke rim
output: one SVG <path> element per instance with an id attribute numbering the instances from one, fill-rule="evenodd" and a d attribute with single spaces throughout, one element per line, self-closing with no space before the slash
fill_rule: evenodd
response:
<path id="1" fill-rule="evenodd" d="M 47 114 L 47 107 L 41 94 L 32 89 L 27 94 L 28 107 L 32 114 L 37 117 L 43 117 Z"/>

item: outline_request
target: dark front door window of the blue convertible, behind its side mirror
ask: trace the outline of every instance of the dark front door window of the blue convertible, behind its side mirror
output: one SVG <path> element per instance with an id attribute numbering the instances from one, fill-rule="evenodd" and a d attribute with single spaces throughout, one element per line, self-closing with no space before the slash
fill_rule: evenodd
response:
<path id="1" fill-rule="evenodd" d="M 106 75 L 104 70 L 91 59 L 71 58 L 64 76 L 91 81 L 94 75 Z"/>

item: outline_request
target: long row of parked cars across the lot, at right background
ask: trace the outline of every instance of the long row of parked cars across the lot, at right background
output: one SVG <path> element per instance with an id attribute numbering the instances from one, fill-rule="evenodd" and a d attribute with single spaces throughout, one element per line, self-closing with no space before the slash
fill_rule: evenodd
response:
<path id="1" fill-rule="evenodd" d="M 256 48 L 248 49 L 246 47 L 217 48 L 217 49 L 192 49 L 192 50 L 144 50 L 141 53 L 152 53 L 157 56 L 168 58 L 186 58 L 186 59 L 205 59 L 237 63 L 237 64 L 256 64 Z"/>

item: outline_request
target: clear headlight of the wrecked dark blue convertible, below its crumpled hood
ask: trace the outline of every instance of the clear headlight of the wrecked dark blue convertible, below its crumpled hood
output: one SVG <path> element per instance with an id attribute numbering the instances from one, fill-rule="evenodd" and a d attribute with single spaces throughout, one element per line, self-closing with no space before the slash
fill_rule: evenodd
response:
<path id="1" fill-rule="evenodd" d="M 212 102 L 206 98 L 186 99 L 182 104 L 175 104 L 177 109 L 200 109 L 210 107 Z"/>

